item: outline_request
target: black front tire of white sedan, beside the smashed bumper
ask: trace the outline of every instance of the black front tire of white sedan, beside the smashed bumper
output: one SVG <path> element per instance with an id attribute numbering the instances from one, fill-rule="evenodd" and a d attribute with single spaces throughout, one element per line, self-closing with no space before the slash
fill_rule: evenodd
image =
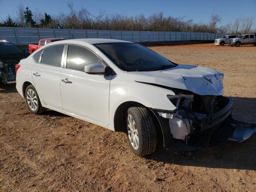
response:
<path id="1" fill-rule="evenodd" d="M 130 130 L 128 126 L 129 115 L 132 116 L 136 124 L 136 129 L 138 133 L 137 149 L 134 148 L 128 134 L 128 131 Z M 127 134 L 128 142 L 132 152 L 134 152 L 134 154 L 138 156 L 145 156 L 145 155 L 152 154 L 156 150 L 156 127 L 155 127 L 154 120 L 152 118 L 152 114 L 150 110 L 144 107 L 131 107 L 127 111 L 126 121 L 127 121 L 126 134 Z"/>

